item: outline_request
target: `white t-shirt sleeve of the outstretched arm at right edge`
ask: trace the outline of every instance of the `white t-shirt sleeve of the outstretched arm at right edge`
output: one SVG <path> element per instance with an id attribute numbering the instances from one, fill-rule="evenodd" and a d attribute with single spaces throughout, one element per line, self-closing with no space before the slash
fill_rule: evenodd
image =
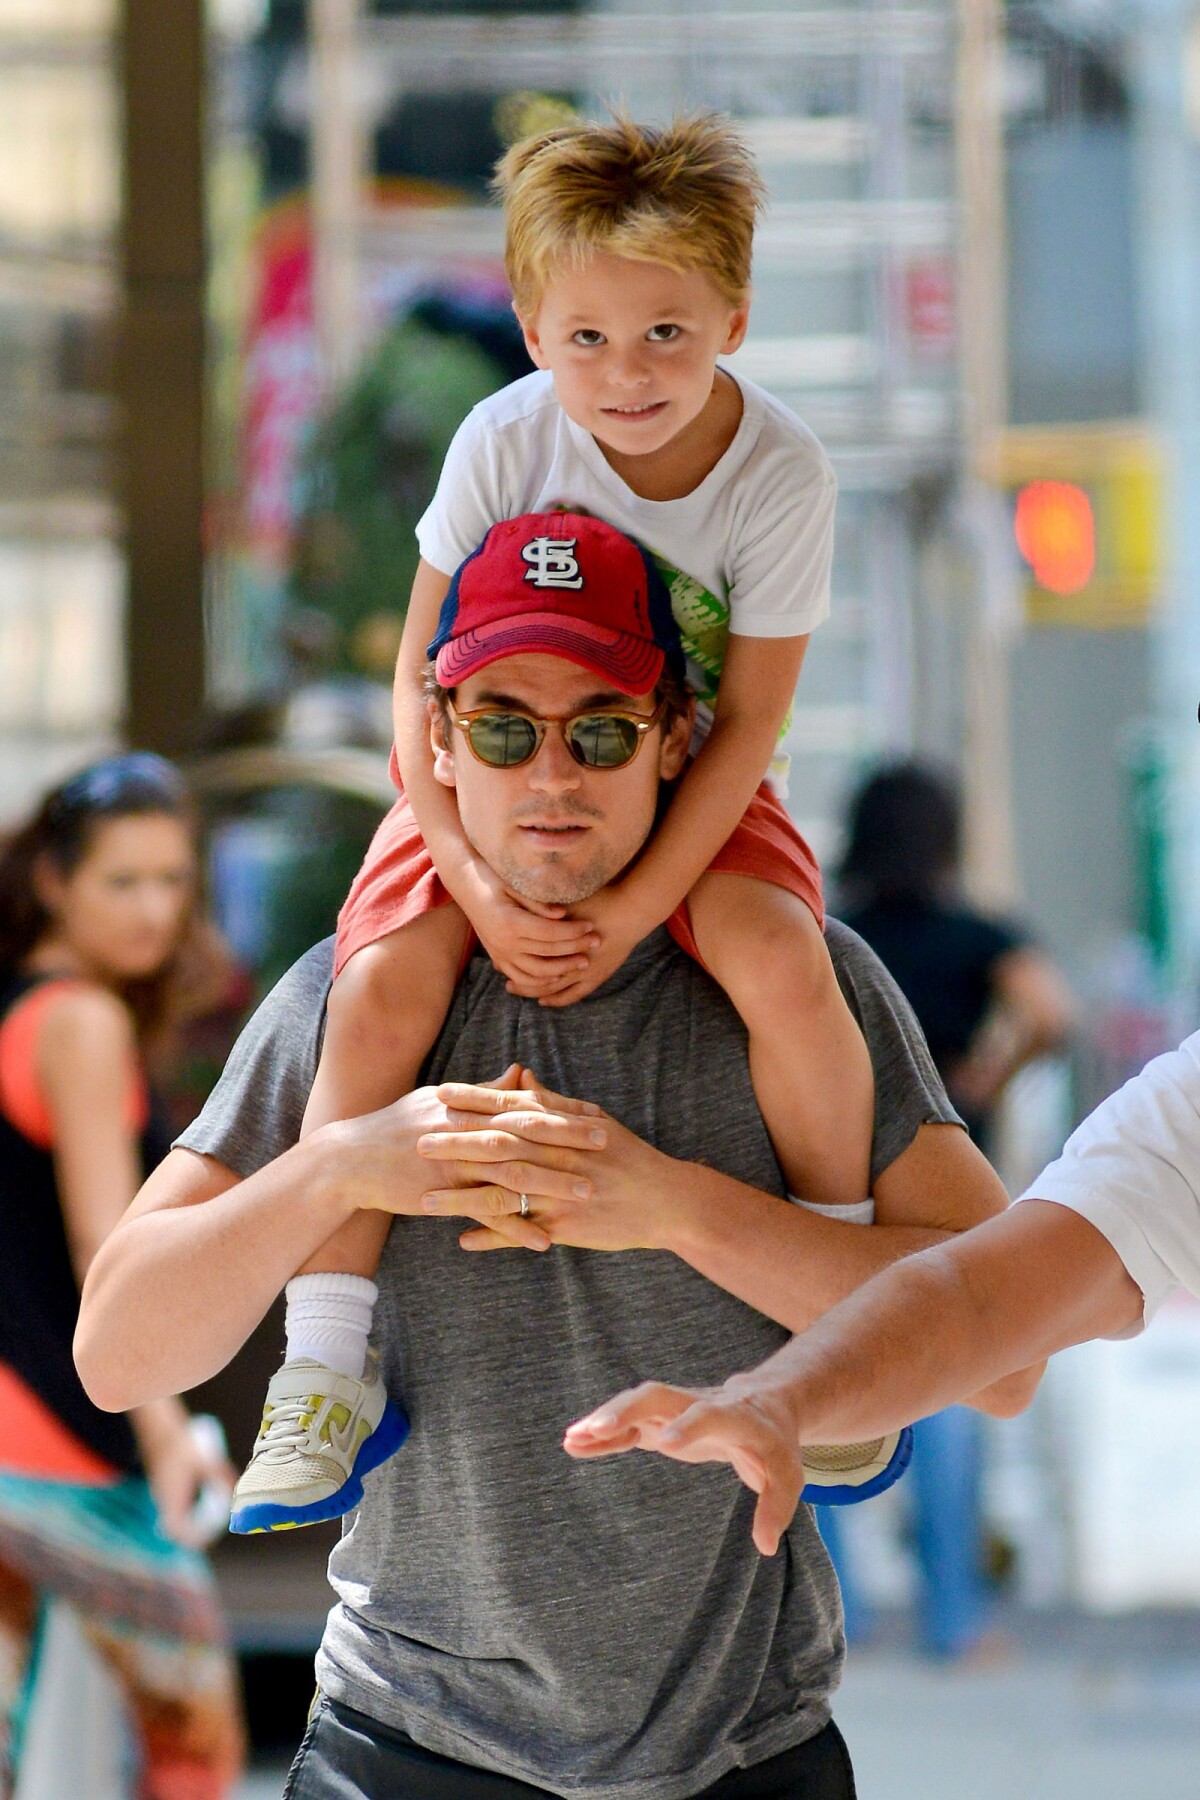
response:
<path id="1" fill-rule="evenodd" d="M 1200 1031 L 1096 1107 L 1020 1197 L 1094 1224 L 1141 1287 L 1146 1323 L 1175 1287 L 1200 1298 Z"/>

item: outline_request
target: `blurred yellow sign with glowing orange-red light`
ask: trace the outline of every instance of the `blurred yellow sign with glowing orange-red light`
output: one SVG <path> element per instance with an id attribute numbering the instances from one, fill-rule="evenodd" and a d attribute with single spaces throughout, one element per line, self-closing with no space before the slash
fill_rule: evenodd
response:
<path id="1" fill-rule="evenodd" d="M 1162 578 L 1162 457 L 1142 427 L 1011 430 L 986 473 L 1013 493 L 1031 625 L 1146 623 Z M 1067 527 L 1079 580 L 1063 578 Z"/>

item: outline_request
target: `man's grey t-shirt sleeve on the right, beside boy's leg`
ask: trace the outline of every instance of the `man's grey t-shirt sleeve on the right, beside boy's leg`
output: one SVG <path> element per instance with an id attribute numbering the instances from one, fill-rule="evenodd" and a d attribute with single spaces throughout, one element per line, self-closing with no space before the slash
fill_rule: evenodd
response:
<path id="1" fill-rule="evenodd" d="M 876 1183 L 903 1156 L 921 1125 L 963 1125 L 963 1120 L 950 1105 L 912 1006 L 874 950 L 835 918 L 826 922 L 826 945 L 871 1053 L 871 1181 Z"/>

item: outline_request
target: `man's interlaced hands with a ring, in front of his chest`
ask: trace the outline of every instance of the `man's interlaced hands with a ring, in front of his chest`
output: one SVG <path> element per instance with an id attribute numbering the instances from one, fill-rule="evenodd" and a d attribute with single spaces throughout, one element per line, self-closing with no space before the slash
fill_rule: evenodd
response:
<path id="1" fill-rule="evenodd" d="M 522 1193 L 547 1244 L 666 1249 L 687 1206 L 680 1165 L 588 1102 L 540 1087 L 529 1071 L 522 1089 L 437 1089 L 453 1123 L 426 1132 L 417 1150 L 453 1181 L 430 1188 L 425 1210 L 479 1219 L 486 1228 L 464 1233 L 464 1249 L 507 1249 Z M 495 1217 L 484 1219 L 484 1208 Z"/>

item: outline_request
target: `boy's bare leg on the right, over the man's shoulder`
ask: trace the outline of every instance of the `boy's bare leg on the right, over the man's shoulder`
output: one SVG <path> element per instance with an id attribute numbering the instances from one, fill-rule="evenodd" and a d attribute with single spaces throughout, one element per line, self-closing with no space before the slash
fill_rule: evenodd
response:
<path id="1" fill-rule="evenodd" d="M 874 1078 L 810 909 L 747 875 L 702 875 L 689 895 L 700 954 L 750 1033 L 750 1076 L 788 1192 L 864 1201 Z"/>

